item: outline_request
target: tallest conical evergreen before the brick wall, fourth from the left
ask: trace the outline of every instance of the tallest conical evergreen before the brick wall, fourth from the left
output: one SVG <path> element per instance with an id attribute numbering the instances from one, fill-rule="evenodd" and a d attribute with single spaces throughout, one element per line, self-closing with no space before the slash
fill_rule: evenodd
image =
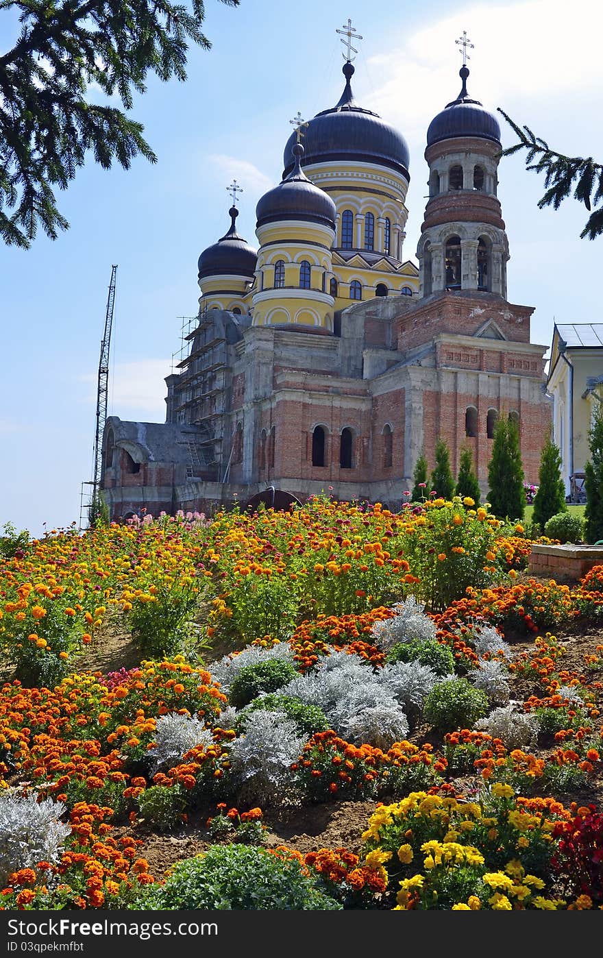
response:
<path id="1" fill-rule="evenodd" d="M 502 519 L 522 519 L 525 492 L 520 434 L 517 424 L 510 417 L 500 416 L 495 425 L 488 483 L 488 501 L 492 512 Z"/>

